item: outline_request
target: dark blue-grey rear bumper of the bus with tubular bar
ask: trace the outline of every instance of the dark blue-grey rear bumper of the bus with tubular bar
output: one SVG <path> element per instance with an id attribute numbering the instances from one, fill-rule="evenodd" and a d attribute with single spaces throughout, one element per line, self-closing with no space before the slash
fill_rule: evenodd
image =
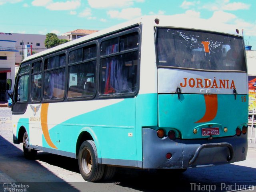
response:
<path id="1" fill-rule="evenodd" d="M 226 164 L 246 159 L 247 134 L 208 139 L 158 138 L 156 130 L 142 129 L 143 168 L 182 169 Z M 170 159 L 166 154 L 172 154 Z"/>

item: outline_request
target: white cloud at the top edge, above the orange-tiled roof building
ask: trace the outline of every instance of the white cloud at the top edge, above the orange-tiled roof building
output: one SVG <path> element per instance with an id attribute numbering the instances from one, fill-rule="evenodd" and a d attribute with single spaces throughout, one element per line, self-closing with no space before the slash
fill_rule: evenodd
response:
<path id="1" fill-rule="evenodd" d="M 74 10 L 81 5 L 80 0 L 55 2 L 46 6 L 49 10 Z"/>

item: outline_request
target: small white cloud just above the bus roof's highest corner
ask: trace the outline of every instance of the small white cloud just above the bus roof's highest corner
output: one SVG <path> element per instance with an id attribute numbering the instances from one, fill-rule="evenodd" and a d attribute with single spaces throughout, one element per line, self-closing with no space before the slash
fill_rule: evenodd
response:
<path id="1" fill-rule="evenodd" d="M 126 20 L 130 20 L 142 15 L 140 8 L 126 8 L 126 9 L 122 9 L 121 12 L 118 10 L 110 10 L 107 12 L 107 14 L 108 16 L 110 16 L 110 18 L 126 19 Z"/>

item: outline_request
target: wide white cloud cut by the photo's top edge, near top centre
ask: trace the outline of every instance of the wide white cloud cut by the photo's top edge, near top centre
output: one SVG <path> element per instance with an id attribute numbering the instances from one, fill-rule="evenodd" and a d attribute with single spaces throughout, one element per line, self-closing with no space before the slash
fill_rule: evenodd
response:
<path id="1" fill-rule="evenodd" d="M 88 0 L 92 8 L 120 8 L 133 6 L 134 2 L 142 3 L 144 0 Z"/>

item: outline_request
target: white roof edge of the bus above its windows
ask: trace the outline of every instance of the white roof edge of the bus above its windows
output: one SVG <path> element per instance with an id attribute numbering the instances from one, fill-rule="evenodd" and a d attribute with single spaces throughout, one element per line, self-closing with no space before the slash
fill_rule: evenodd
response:
<path id="1" fill-rule="evenodd" d="M 34 54 L 32 56 L 25 58 L 23 60 L 23 62 L 32 60 L 35 58 L 39 58 L 39 57 L 47 55 L 47 54 L 51 54 L 53 52 L 62 50 L 64 48 L 76 46 L 76 45 L 78 45 L 82 42 L 86 42 L 90 39 L 104 36 L 106 34 L 110 34 L 112 32 L 122 30 L 122 29 L 128 28 L 130 26 L 134 26 L 137 24 L 147 24 L 147 25 L 152 25 L 152 27 L 153 27 L 153 26 L 156 26 L 156 23 L 155 23 L 156 18 L 159 19 L 158 26 L 207 30 L 207 31 L 212 31 L 212 32 L 222 32 L 222 33 L 226 33 L 226 34 L 242 36 L 242 30 L 239 30 L 239 33 L 237 33 L 236 28 L 232 25 L 217 23 L 214 21 L 212 21 L 211 24 L 209 24 L 209 20 L 205 20 L 205 19 L 201 19 L 201 18 L 193 18 L 193 17 L 188 18 L 187 16 L 182 15 L 182 14 L 178 15 L 179 19 L 177 19 L 177 15 L 173 15 L 173 16 L 143 16 L 140 18 L 136 18 L 134 20 L 130 20 L 130 21 L 118 24 L 116 26 L 112 26 L 110 28 L 106 28 L 104 30 L 100 30 L 98 32 L 89 34 L 89 35 L 81 37 L 79 39 L 72 40 L 70 42 L 58 45 L 54 48 L 44 50 L 42 52 L 39 52 L 37 54 Z"/>

